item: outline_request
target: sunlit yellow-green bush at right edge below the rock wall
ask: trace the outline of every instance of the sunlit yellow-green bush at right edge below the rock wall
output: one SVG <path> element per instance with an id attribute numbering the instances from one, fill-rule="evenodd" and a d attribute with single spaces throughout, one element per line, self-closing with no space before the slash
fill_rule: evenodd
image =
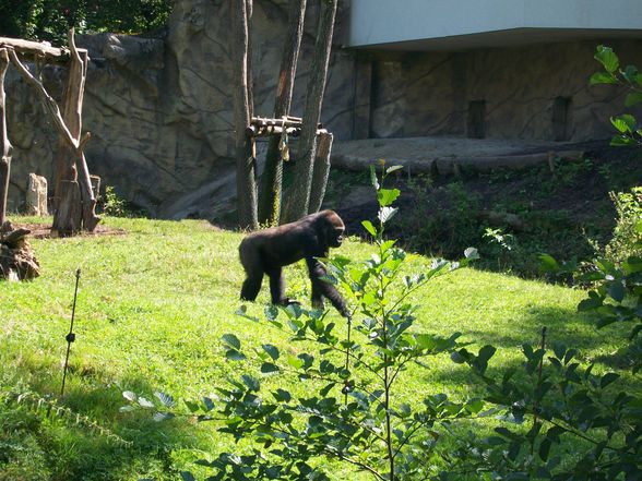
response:
<path id="1" fill-rule="evenodd" d="M 606 257 L 620 264 L 628 257 L 642 257 L 642 232 L 639 226 L 642 221 L 642 187 L 635 187 L 630 192 L 610 192 L 618 215 L 613 232 L 613 239 L 606 246 Z"/>

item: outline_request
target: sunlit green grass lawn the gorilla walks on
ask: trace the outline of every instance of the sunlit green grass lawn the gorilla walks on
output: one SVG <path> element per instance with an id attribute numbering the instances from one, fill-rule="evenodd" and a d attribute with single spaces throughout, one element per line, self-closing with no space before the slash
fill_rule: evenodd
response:
<path id="1" fill-rule="evenodd" d="M 104 224 L 124 233 L 33 240 L 41 277 L 0 282 L 0 480 L 177 479 L 181 469 L 193 468 L 191 460 L 201 458 L 201 450 L 217 454 L 230 448 L 229 440 L 213 425 L 193 426 L 183 419 L 154 423 L 148 413 L 119 412 L 121 393 L 152 397 L 163 390 L 179 399 L 209 395 L 238 370 L 224 358 L 219 339 L 225 333 L 243 344 L 299 349 L 234 314 L 243 278 L 237 254 L 242 235 L 198 220 L 107 218 Z M 341 252 L 362 258 L 370 250 L 350 240 Z M 408 269 L 421 270 L 429 262 L 412 255 Z M 79 267 L 76 342 L 59 402 L 131 442 L 130 447 L 74 419 L 2 402 L 7 393 L 27 389 L 58 396 Z M 288 294 L 307 304 L 305 265 L 288 268 L 286 276 Z M 521 344 L 536 344 L 543 326 L 551 341 L 576 347 L 587 361 L 614 351 L 621 337 L 611 335 L 614 329 L 598 335 L 592 321 L 575 312 L 583 297 L 569 288 L 466 268 L 437 279 L 413 301 L 420 304 L 419 328 L 444 335 L 459 330 L 479 346 L 497 346 L 491 365 L 499 370 L 520 362 Z M 260 316 L 268 301 L 263 289 L 250 313 Z M 331 315 L 342 323 L 336 312 Z M 472 382 L 466 369 L 441 359 L 431 370 L 411 369 L 400 398 L 440 392 L 464 397 L 474 390 Z M 289 388 L 302 392 L 301 386 Z M 334 472 L 345 479 L 345 471 Z"/>

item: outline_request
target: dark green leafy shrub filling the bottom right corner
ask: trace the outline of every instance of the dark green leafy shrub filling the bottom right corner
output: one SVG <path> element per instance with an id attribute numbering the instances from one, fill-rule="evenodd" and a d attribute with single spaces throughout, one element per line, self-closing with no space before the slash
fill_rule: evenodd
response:
<path id="1" fill-rule="evenodd" d="M 486 382 L 486 399 L 510 424 L 494 435 L 469 434 L 451 457 L 442 480 L 475 473 L 483 480 L 639 480 L 642 473 L 642 412 L 639 396 L 627 393 L 614 372 L 595 374 L 576 361 L 578 351 L 543 342 L 523 346 L 523 368 L 500 381 L 488 376 L 488 347 L 454 358 Z M 563 457 L 570 438 L 582 453 Z"/>

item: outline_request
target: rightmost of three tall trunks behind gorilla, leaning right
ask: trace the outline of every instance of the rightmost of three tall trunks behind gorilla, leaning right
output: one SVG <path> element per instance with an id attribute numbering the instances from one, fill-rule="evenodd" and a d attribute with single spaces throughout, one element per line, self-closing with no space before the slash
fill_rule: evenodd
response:
<path id="1" fill-rule="evenodd" d="M 337 0 L 321 0 L 314 56 L 310 68 L 304 110 L 304 124 L 297 152 L 297 163 L 294 168 L 295 180 L 287 200 L 285 223 L 297 220 L 309 212 L 312 170 L 317 152 L 317 125 L 321 118 L 321 106 L 323 105 L 325 92 L 336 4 Z"/>

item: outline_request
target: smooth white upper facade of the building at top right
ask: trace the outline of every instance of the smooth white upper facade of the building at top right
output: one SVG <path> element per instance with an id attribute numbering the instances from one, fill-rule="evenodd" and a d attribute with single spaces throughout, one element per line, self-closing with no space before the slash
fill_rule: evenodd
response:
<path id="1" fill-rule="evenodd" d="M 527 29 L 640 31 L 639 0 L 350 0 L 347 45 L 385 46 Z M 524 32 L 521 32 L 524 31 Z M 451 45 L 452 46 L 452 45 Z M 402 47 L 399 47 L 402 48 Z"/>

